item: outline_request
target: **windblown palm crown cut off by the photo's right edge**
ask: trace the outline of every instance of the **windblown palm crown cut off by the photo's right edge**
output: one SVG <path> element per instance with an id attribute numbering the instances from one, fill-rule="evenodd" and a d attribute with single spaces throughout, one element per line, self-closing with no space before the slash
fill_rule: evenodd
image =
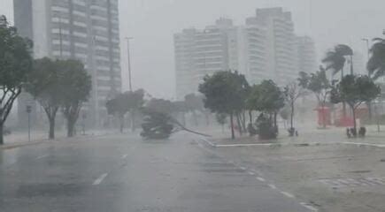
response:
<path id="1" fill-rule="evenodd" d="M 385 39 L 374 38 L 373 46 L 370 49 L 371 57 L 367 62 L 369 77 L 373 80 L 385 75 Z"/>

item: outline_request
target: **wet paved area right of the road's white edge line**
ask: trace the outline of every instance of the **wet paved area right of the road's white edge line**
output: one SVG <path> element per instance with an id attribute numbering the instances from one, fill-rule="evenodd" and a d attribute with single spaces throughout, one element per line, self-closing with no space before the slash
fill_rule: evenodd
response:
<path id="1" fill-rule="evenodd" d="M 320 212 L 385 211 L 384 148 L 330 144 L 211 149 Z"/>

